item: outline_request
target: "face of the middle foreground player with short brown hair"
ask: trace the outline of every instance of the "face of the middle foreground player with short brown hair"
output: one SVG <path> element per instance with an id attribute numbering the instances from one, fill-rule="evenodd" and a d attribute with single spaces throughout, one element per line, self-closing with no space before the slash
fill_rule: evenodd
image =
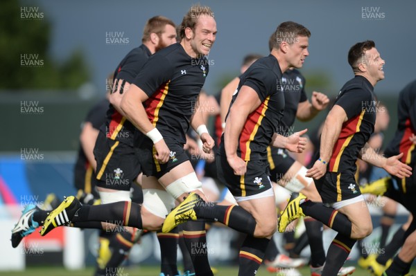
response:
<path id="1" fill-rule="evenodd" d="M 286 43 L 286 42 L 285 42 Z M 297 36 L 293 44 L 286 43 L 286 60 L 289 67 L 301 68 L 309 55 L 309 37 Z"/>

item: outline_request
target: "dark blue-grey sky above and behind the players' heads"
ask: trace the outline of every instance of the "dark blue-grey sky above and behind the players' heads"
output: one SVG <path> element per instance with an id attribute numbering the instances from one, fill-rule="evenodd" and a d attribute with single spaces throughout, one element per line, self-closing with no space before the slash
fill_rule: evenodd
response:
<path id="1" fill-rule="evenodd" d="M 38 0 L 44 17 L 53 23 L 51 53 L 58 59 L 82 48 L 92 84 L 105 91 L 105 77 L 128 51 L 141 44 L 146 20 L 164 15 L 180 24 L 193 1 L 49 1 Z M 247 53 L 268 55 L 268 38 L 282 21 L 297 21 L 311 30 L 310 55 L 305 73 L 324 71 L 333 80 L 330 91 L 352 77 L 347 51 L 356 42 L 372 39 L 385 59 L 385 80 L 376 93 L 397 93 L 415 78 L 416 1 L 200 1 L 210 6 L 216 18 L 218 35 L 209 59 L 205 89 L 218 91 L 216 83 L 224 74 L 239 72 Z M 22 4 L 26 5 L 26 1 Z M 106 43 L 106 35 L 119 34 L 121 44 Z M 307 89 L 306 82 L 306 89 Z M 310 92 L 310 91 L 309 91 Z"/>

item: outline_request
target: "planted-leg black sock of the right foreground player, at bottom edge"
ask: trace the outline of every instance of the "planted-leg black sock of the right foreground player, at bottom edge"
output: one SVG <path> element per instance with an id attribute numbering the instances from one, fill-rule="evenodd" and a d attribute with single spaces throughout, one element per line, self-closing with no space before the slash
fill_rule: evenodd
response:
<path id="1" fill-rule="evenodd" d="M 351 239 L 340 233 L 336 235 L 328 248 L 327 261 L 325 261 L 322 276 L 333 276 L 338 274 L 343 267 L 349 252 L 351 252 L 354 243 L 356 243 L 356 239 Z"/>

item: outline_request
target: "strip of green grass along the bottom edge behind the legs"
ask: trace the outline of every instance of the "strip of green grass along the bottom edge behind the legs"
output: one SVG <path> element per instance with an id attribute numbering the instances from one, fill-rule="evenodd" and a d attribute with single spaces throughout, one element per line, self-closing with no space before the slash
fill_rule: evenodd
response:
<path id="1" fill-rule="evenodd" d="M 221 266 L 218 268 L 216 276 L 232 276 L 237 275 L 238 268 L 233 266 Z M 65 270 L 60 267 L 48 267 L 48 268 L 28 268 L 21 272 L 2 272 L 0 275 L 8 276 L 92 276 L 94 272 L 93 268 L 85 268 L 85 270 Z M 300 273 L 302 275 L 310 275 L 310 270 L 307 267 L 301 268 Z M 410 273 L 416 274 L 416 267 L 413 267 Z M 114 276 L 159 276 L 159 267 L 156 266 L 140 266 L 135 268 L 119 268 L 117 271 L 112 271 L 110 275 Z M 266 266 L 261 266 L 257 273 L 257 276 L 272 276 L 275 273 L 269 273 L 266 270 Z M 357 268 L 354 276 L 371 275 L 369 272 Z"/>

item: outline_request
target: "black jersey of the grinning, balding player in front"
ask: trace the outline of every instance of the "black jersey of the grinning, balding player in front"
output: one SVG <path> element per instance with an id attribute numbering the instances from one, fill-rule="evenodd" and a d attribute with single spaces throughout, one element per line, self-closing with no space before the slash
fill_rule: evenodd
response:
<path id="1" fill-rule="evenodd" d="M 149 96 L 144 102 L 148 119 L 165 140 L 187 142 L 185 134 L 208 67 L 205 56 L 192 58 L 177 43 L 152 55 L 137 75 L 134 84 Z"/>

